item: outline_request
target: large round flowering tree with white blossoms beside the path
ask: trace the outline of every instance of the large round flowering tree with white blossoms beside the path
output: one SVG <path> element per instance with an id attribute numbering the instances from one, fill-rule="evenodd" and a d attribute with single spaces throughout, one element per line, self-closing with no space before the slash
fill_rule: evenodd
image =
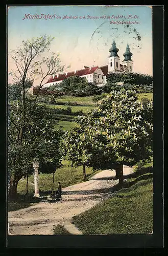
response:
<path id="1" fill-rule="evenodd" d="M 116 169 L 121 185 L 123 164 L 133 166 L 152 155 L 152 102 L 140 102 L 132 90 L 111 92 L 77 122 L 87 136 L 88 166 Z M 81 142 L 76 143 L 83 148 Z M 75 151 L 73 154 L 74 159 L 78 157 Z"/>

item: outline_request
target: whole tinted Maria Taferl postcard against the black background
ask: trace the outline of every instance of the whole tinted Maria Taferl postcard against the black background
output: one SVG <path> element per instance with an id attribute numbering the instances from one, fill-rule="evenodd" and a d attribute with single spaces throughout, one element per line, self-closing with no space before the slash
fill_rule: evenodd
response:
<path id="1" fill-rule="evenodd" d="M 8 237 L 152 236 L 153 7 L 7 8 Z"/>

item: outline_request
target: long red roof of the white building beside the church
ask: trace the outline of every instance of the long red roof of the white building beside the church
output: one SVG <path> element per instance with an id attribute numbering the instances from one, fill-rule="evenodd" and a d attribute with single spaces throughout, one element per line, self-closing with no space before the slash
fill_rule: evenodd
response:
<path id="1" fill-rule="evenodd" d="M 95 72 L 95 70 L 99 69 L 98 66 L 96 67 L 92 67 L 91 69 L 90 68 L 85 68 L 85 69 L 81 69 L 81 70 L 77 70 L 76 73 L 75 71 L 72 71 L 72 72 L 68 72 L 67 74 L 64 73 L 64 74 L 60 74 L 58 77 L 55 76 L 54 78 L 51 77 L 46 83 L 48 82 L 56 82 L 56 81 L 61 81 L 69 76 L 84 76 L 84 75 L 89 75 L 89 74 L 92 74 Z"/>

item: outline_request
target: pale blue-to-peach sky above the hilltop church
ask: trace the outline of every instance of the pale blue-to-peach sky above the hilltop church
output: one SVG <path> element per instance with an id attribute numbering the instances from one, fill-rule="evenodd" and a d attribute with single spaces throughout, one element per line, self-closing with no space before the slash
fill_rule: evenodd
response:
<path id="1" fill-rule="evenodd" d="M 32 17 L 31 15 L 41 17 L 41 14 L 43 14 L 42 18 L 28 18 Z M 48 14 L 53 17 L 46 19 L 44 15 Z M 76 18 L 67 18 L 70 16 Z M 138 24 L 129 26 L 115 24 L 122 20 Z M 60 53 L 62 64 L 65 65 L 64 72 L 82 69 L 84 65 L 108 65 L 109 49 L 114 39 L 119 49 L 118 56 L 121 63 L 126 46 L 129 44 L 133 53 L 134 72 L 152 75 L 152 8 L 150 6 L 8 7 L 9 72 L 15 69 L 10 51 L 20 46 L 22 40 L 43 34 L 55 37 L 51 44 L 51 52 Z M 70 68 L 66 69 L 69 65 Z M 9 81 L 10 79 L 9 76 Z M 37 84 L 38 80 L 34 83 Z"/>

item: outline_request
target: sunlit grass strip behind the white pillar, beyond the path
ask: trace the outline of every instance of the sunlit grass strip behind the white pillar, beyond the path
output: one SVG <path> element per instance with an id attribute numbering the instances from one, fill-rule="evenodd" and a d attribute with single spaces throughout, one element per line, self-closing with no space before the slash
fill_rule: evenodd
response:
<path id="1" fill-rule="evenodd" d="M 58 182 L 61 182 L 62 187 L 67 187 L 83 181 L 83 167 L 78 168 L 68 166 L 67 161 L 63 161 L 64 166 L 55 173 L 54 189 L 57 189 Z M 92 168 L 86 167 L 86 178 L 94 175 Z M 52 190 L 53 174 L 39 174 L 39 190 L 49 191 Z M 34 191 L 34 177 L 29 177 L 28 190 L 30 193 Z M 26 179 L 21 179 L 18 182 L 18 193 L 24 194 L 26 192 Z"/>

